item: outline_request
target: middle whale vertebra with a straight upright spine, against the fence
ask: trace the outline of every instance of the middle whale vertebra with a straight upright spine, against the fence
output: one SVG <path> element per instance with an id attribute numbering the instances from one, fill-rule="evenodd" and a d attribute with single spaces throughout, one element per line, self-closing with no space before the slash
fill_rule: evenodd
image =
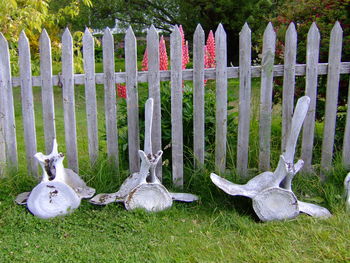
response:
<path id="1" fill-rule="evenodd" d="M 160 150 L 152 153 L 151 130 L 153 118 L 153 99 L 145 105 L 145 144 L 144 151 L 139 150 L 141 168 L 131 174 L 116 193 L 98 194 L 89 200 L 95 205 L 107 205 L 113 202 L 123 202 L 127 210 L 141 208 L 150 212 L 165 210 L 172 206 L 173 201 L 193 202 L 198 197 L 193 194 L 171 193 L 159 181 L 156 175 L 157 164 L 163 154 Z"/>

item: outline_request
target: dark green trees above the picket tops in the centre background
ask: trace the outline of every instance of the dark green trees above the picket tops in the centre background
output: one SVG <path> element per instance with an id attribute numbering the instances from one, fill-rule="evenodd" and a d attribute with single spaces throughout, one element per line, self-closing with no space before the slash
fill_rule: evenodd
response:
<path id="1" fill-rule="evenodd" d="M 253 32 L 260 35 L 273 17 L 277 3 L 271 0 L 92 0 L 92 7 L 83 8 L 84 16 L 71 23 L 82 30 L 85 26 L 114 27 L 117 22 L 121 28 L 131 25 L 135 32 L 151 24 L 167 32 L 174 25 L 182 25 L 190 36 L 198 23 L 205 30 L 222 23 L 228 35 L 228 58 L 238 61 L 238 35 L 243 24 L 248 21 Z"/>

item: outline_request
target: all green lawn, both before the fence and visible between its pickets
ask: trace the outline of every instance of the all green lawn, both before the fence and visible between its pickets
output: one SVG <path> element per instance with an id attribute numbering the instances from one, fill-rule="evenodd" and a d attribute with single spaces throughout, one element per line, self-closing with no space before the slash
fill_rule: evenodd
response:
<path id="1" fill-rule="evenodd" d="M 253 83 L 252 131 L 250 141 L 250 174 L 256 175 L 257 110 L 259 83 Z M 210 83 L 209 83 L 210 85 Z M 98 120 L 101 158 L 94 167 L 88 164 L 84 89 L 77 86 L 76 115 L 80 174 L 96 188 L 97 193 L 114 192 L 127 176 L 126 165 L 120 173 L 110 169 L 104 160 L 103 87 L 98 86 Z M 32 216 L 24 206 L 15 205 L 17 194 L 29 191 L 37 183 L 26 174 L 21 120 L 20 91 L 14 90 L 20 167 L 0 179 L 0 262 L 349 262 L 348 236 L 350 216 L 342 199 L 342 181 L 346 171 L 340 158 L 324 184 L 315 174 L 298 174 L 293 188 L 300 200 L 327 207 L 333 217 L 320 220 L 301 215 L 283 222 L 261 223 L 246 198 L 231 197 L 217 189 L 209 179 L 213 161 L 195 171 L 185 167 L 186 192 L 195 193 L 196 203 L 175 203 L 167 211 L 129 212 L 121 204 L 98 207 L 82 201 L 71 215 L 49 220 Z M 146 97 L 140 86 L 140 100 Z M 238 98 L 238 82 L 230 81 L 229 98 Z M 40 89 L 34 89 L 35 105 L 41 105 Z M 141 102 L 142 103 L 142 102 Z M 237 103 L 233 103 L 235 108 Z M 65 152 L 61 90 L 55 87 L 56 129 L 59 150 Z M 38 150 L 44 151 L 42 113 L 35 108 Z M 272 128 L 272 167 L 279 155 L 280 109 L 274 107 Z M 236 119 L 232 138 L 235 141 Z M 122 127 L 120 127 L 122 128 Z M 317 124 L 316 145 L 322 123 Z M 121 149 L 123 145 L 120 145 Z M 228 172 L 231 181 L 243 182 L 234 171 L 235 145 L 229 147 Z M 317 159 L 319 154 L 315 155 Z M 208 157 L 210 159 L 210 155 Z M 317 167 L 316 167 L 317 168 Z M 170 185 L 170 167 L 165 167 L 165 184 Z M 173 189 L 176 190 L 176 189 Z M 177 190 L 178 191 L 178 190 Z"/>

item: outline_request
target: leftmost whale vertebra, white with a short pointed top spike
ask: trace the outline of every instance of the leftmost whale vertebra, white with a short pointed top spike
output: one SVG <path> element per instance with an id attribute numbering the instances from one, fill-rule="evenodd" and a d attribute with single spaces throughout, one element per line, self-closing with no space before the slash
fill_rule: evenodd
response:
<path id="1" fill-rule="evenodd" d="M 64 155 L 58 152 L 56 140 L 49 155 L 39 152 L 34 157 L 42 167 L 42 180 L 31 192 L 21 193 L 15 200 L 27 205 L 33 215 L 52 218 L 68 214 L 79 207 L 82 198 L 95 194 L 95 189 L 88 187 L 79 175 L 64 168 Z"/>

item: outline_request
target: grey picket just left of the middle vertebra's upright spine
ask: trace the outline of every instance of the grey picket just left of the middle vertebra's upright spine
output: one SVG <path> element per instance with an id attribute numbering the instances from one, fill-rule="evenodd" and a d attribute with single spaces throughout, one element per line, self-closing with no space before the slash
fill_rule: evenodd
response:
<path id="1" fill-rule="evenodd" d="M 125 35 L 126 102 L 128 114 L 129 169 L 131 173 L 140 169 L 140 128 L 139 98 L 137 91 L 137 50 L 136 37 L 131 27 Z"/>

